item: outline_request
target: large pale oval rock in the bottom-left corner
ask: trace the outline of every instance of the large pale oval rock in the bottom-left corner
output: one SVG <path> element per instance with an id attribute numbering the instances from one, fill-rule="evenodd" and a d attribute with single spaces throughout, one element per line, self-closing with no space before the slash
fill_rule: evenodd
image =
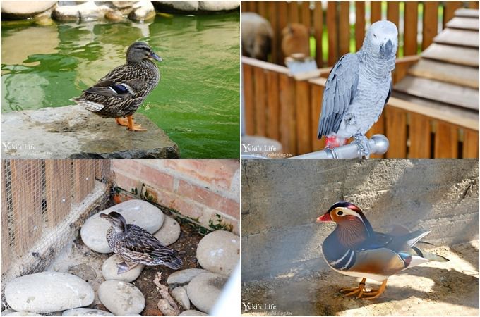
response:
<path id="1" fill-rule="evenodd" d="M 76 275 L 42 272 L 20 276 L 7 283 L 5 298 L 16 311 L 52 313 L 92 304 L 92 287 Z M 27 308 L 27 309 L 25 309 Z"/>

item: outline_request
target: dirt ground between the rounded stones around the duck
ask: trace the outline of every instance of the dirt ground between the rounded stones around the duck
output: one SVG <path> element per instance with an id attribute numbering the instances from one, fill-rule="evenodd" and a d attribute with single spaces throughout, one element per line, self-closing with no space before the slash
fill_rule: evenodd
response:
<path id="1" fill-rule="evenodd" d="M 168 212 L 165 211 L 164 213 L 168 214 Z M 181 259 L 184 261 L 182 269 L 200 268 L 196 259 L 196 249 L 203 235 L 200 235 L 195 228 L 192 228 L 188 224 L 180 223 L 180 227 L 181 233 L 179 240 L 176 240 L 176 242 L 169 245 L 169 247 L 179 252 Z M 88 306 L 88 308 L 107 311 L 97 297 L 97 289 L 104 281 L 102 278 L 102 265 L 109 256 L 112 256 L 112 254 L 100 254 L 92 251 L 83 244 L 80 236 L 78 236 L 76 240 L 66 248 L 64 253 L 54 261 L 49 269 L 72 273 L 89 282 L 93 290 L 95 290 L 95 301 L 92 305 Z M 160 294 L 153 283 L 157 272 L 162 272 L 160 282 L 163 285 L 167 285 L 167 278 L 174 270 L 166 266 L 145 266 L 137 280 L 132 283 L 138 287 L 145 296 L 145 309 L 140 313 L 143 316 L 163 316 L 162 312 L 157 308 Z M 170 287 L 170 290 L 172 290 L 172 287 Z M 196 307 L 191 304 L 191 309 L 196 309 Z"/>

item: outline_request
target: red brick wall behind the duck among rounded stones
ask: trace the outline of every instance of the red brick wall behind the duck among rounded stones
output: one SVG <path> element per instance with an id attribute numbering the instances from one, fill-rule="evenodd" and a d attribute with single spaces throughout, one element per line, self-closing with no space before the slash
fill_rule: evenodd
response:
<path id="1" fill-rule="evenodd" d="M 237 160 L 113 160 L 116 186 L 143 189 L 157 204 L 175 209 L 208 228 L 222 216 L 239 234 L 240 164 Z"/>

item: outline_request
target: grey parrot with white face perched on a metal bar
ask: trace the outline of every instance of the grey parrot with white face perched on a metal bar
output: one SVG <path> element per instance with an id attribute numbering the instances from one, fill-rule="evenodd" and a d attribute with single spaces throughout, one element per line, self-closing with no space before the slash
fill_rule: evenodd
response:
<path id="1" fill-rule="evenodd" d="M 390 98 L 397 47 L 395 24 L 378 21 L 368 29 L 359 51 L 337 61 L 323 91 L 318 139 L 354 137 L 361 153 L 370 155 L 365 133 Z"/>

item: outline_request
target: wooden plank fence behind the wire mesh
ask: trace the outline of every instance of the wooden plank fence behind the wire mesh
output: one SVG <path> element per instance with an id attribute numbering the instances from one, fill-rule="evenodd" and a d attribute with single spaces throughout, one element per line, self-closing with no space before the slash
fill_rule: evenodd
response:
<path id="1" fill-rule="evenodd" d="M 109 160 L 1 160 L 1 273 L 108 175 Z"/>

